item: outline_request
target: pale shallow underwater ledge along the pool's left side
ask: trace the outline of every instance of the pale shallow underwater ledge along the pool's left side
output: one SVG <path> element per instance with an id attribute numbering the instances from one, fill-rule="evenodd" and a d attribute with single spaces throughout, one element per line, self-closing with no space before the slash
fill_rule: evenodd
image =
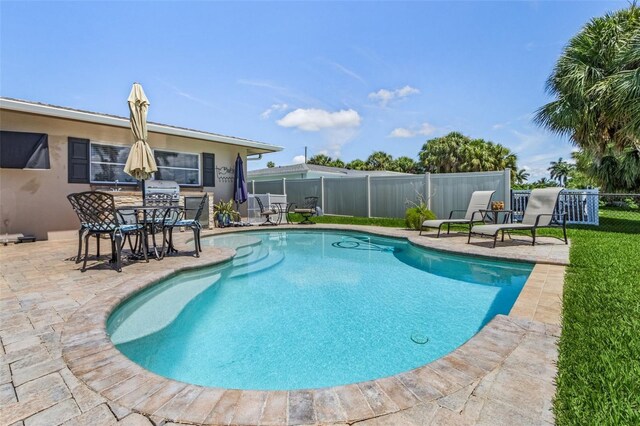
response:
<path id="1" fill-rule="evenodd" d="M 188 280 L 152 287 L 138 299 L 138 303 L 125 308 L 128 312 L 117 319 L 122 326 L 111 334 L 111 340 L 118 345 L 162 330 L 180 315 L 189 302 L 216 284 L 221 276 L 204 269 Z"/>

